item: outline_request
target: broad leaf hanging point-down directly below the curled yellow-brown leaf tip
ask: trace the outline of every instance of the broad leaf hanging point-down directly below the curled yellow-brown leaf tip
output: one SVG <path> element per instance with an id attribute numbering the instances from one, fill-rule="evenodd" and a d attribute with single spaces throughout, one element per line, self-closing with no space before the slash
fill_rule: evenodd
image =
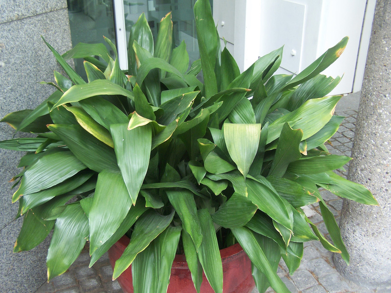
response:
<path id="1" fill-rule="evenodd" d="M 128 124 L 110 126 L 117 163 L 133 205 L 143 184 L 150 161 L 152 129 L 140 126 L 128 130 Z"/>

